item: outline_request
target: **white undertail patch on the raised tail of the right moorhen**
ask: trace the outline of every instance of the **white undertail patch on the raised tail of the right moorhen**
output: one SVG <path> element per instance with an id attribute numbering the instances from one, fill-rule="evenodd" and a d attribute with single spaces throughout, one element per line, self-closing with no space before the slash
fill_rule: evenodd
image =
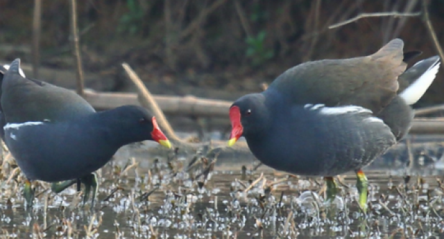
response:
<path id="1" fill-rule="evenodd" d="M 432 82 L 435 80 L 440 64 L 441 62 L 434 64 L 427 71 L 425 71 L 425 73 L 423 73 L 418 80 L 413 82 L 413 84 L 401 92 L 399 96 L 401 96 L 407 102 L 407 105 L 413 105 L 422 97 L 422 95 L 425 94 L 425 91 L 429 89 L 429 86 L 432 85 Z"/>

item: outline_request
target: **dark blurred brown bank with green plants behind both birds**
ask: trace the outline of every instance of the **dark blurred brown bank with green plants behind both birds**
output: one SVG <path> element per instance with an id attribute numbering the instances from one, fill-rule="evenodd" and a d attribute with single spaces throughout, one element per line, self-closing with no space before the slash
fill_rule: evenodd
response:
<path id="1" fill-rule="evenodd" d="M 23 2 L 34 2 L 33 14 Z M 234 100 L 307 60 L 365 55 L 395 37 L 428 57 L 444 37 L 443 1 L 77 0 L 77 37 L 62 13 L 71 0 L 23 2 L 0 1 L 8 9 L 0 15 L 0 60 L 21 57 L 34 76 L 71 89 L 81 81 L 65 76 L 83 70 L 86 88 L 135 91 L 121 71 L 125 61 L 153 94 Z M 424 38 L 429 26 L 434 44 Z M 81 66 L 71 55 L 78 37 Z M 443 74 L 416 107 L 443 103 Z"/>

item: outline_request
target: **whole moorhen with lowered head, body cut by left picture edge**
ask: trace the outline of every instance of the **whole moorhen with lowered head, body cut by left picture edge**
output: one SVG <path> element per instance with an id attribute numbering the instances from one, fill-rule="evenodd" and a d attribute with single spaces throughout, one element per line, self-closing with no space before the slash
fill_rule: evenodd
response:
<path id="1" fill-rule="evenodd" d="M 19 59 L 0 68 L 0 76 L 0 136 L 27 178 L 28 205 L 34 197 L 31 181 L 41 180 L 53 182 L 56 193 L 75 183 L 78 188 L 80 182 L 85 184 L 83 202 L 92 189 L 93 207 L 97 191 L 93 172 L 119 148 L 144 140 L 171 148 L 155 117 L 142 107 L 124 105 L 96 112 L 74 91 L 25 78 Z"/>

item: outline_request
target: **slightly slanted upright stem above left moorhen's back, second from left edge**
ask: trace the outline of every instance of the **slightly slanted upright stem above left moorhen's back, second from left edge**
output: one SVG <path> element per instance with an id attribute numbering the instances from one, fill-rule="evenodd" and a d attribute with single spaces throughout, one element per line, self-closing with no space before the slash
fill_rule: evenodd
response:
<path id="1" fill-rule="evenodd" d="M 71 44 L 73 48 L 73 54 L 76 58 L 76 79 L 77 79 L 77 94 L 83 96 L 83 69 L 82 69 L 82 57 L 80 55 L 79 37 L 77 32 L 77 4 L 76 0 L 69 1 L 69 7 L 71 10 Z"/>

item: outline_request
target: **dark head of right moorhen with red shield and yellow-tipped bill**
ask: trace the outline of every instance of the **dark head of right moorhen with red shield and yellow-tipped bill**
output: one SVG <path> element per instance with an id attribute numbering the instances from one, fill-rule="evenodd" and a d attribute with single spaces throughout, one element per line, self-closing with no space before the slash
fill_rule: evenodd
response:
<path id="1" fill-rule="evenodd" d="M 264 95 L 242 96 L 230 107 L 232 131 L 228 145 L 234 145 L 241 136 L 263 132 L 268 127 L 270 117 Z"/>

